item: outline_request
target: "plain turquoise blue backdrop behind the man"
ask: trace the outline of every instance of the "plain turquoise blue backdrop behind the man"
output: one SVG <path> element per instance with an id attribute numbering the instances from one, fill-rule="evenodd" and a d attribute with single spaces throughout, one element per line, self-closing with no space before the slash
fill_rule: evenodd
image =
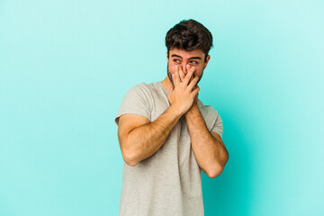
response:
<path id="1" fill-rule="evenodd" d="M 166 31 L 213 34 L 200 99 L 229 162 L 206 215 L 324 215 L 323 1 L 0 1 L 0 215 L 117 215 L 113 119 L 166 76 Z"/>

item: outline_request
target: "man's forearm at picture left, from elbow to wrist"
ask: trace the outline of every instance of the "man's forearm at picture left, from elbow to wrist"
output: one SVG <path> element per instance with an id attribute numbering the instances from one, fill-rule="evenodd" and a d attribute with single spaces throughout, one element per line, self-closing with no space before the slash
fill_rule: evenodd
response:
<path id="1" fill-rule="evenodd" d="M 181 115 L 182 113 L 171 105 L 156 121 L 130 131 L 127 142 L 131 146 L 131 161 L 134 166 L 161 148 Z"/>

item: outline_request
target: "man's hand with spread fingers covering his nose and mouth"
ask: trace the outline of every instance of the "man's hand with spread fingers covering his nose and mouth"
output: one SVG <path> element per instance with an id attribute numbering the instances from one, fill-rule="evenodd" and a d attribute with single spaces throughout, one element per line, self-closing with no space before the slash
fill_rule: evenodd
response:
<path id="1" fill-rule="evenodd" d="M 175 66 L 175 74 L 172 75 L 175 89 L 171 87 L 167 99 L 181 114 L 184 114 L 192 107 L 193 101 L 197 103 L 198 98 L 195 99 L 195 97 L 198 96 L 200 88 L 196 85 L 199 79 L 198 76 L 193 77 L 194 69 L 195 67 L 191 67 L 188 74 L 184 76 L 182 69 Z"/>

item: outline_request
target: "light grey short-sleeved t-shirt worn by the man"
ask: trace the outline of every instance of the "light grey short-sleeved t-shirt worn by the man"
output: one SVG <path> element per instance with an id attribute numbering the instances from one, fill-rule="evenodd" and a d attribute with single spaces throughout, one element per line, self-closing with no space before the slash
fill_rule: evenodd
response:
<path id="1" fill-rule="evenodd" d="M 115 122 L 125 113 L 139 114 L 149 121 L 170 106 L 168 91 L 160 83 L 141 83 L 125 94 Z M 222 137 L 223 126 L 218 112 L 198 99 L 208 130 Z M 184 115 L 155 154 L 136 166 L 124 162 L 120 216 L 202 216 L 202 169 L 191 146 Z"/>

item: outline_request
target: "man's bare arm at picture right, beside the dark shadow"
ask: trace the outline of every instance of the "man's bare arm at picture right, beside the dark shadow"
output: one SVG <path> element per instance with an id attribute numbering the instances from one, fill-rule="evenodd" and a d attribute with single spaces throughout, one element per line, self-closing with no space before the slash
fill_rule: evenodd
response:
<path id="1" fill-rule="evenodd" d="M 229 153 L 220 135 L 208 131 L 196 103 L 193 103 L 192 108 L 185 113 L 185 121 L 198 165 L 211 178 L 220 175 L 229 160 Z"/>

